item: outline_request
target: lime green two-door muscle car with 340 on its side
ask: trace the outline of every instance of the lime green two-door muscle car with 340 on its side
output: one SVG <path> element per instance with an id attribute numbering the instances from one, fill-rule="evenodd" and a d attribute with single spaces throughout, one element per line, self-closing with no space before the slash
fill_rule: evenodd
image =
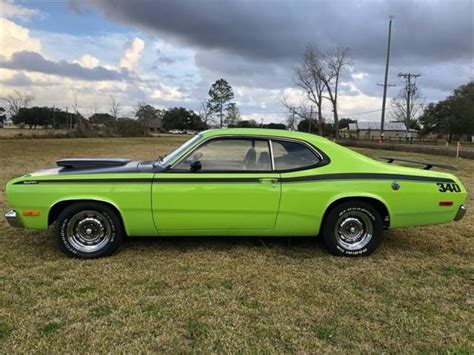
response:
<path id="1" fill-rule="evenodd" d="M 316 135 L 202 132 L 164 159 L 64 159 L 8 182 L 13 226 L 55 224 L 69 256 L 110 255 L 124 236 L 316 236 L 368 255 L 384 229 L 459 220 L 459 179 L 381 162 Z M 403 160 L 403 159 L 398 159 Z"/>

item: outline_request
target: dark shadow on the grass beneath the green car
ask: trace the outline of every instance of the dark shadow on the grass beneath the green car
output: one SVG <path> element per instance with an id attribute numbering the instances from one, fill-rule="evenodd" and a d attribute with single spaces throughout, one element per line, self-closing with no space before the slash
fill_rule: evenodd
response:
<path id="1" fill-rule="evenodd" d="M 54 255 L 60 255 L 52 230 L 48 232 L 28 231 L 18 234 L 21 235 L 15 238 L 13 244 L 23 250 L 23 253 L 52 258 L 55 257 Z M 433 238 L 433 236 L 421 237 L 416 230 L 412 229 L 386 231 L 384 240 L 373 255 L 433 256 L 443 252 L 439 243 L 437 238 Z M 132 253 L 146 256 L 158 252 L 192 253 L 203 251 L 270 252 L 292 258 L 330 255 L 320 235 L 315 237 L 126 237 L 116 255 Z"/>

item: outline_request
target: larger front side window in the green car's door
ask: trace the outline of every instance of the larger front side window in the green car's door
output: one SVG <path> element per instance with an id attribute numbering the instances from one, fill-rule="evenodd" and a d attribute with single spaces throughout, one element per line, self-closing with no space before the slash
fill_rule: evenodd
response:
<path id="1" fill-rule="evenodd" d="M 268 141 L 213 139 L 191 152 L 172 171 L 270 171 Z"/>

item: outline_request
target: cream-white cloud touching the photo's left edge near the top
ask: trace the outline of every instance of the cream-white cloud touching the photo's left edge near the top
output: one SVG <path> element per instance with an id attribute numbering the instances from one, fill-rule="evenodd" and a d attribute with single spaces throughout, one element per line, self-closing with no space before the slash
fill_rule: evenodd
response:
<path id="1" fill-rule="evenodd" d="M 39 39 L 32 38 L 27 28 L 1 17 L 0 28 L 1 56 L 10 58 L 16 52 L 39 52 L 41 50 Z"/>

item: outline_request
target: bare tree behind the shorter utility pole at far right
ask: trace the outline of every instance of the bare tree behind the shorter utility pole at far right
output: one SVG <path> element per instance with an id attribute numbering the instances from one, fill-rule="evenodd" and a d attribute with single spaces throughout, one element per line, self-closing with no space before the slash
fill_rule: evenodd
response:
<path id="1" fill-rule="evenodd" d="M 417 117 L 423 109 L 423 98 L 416 83 L 406 85 L 392 99 L 391 118 L 395 122 L 403 122 L 408 129 L 418 129 Z"/>

